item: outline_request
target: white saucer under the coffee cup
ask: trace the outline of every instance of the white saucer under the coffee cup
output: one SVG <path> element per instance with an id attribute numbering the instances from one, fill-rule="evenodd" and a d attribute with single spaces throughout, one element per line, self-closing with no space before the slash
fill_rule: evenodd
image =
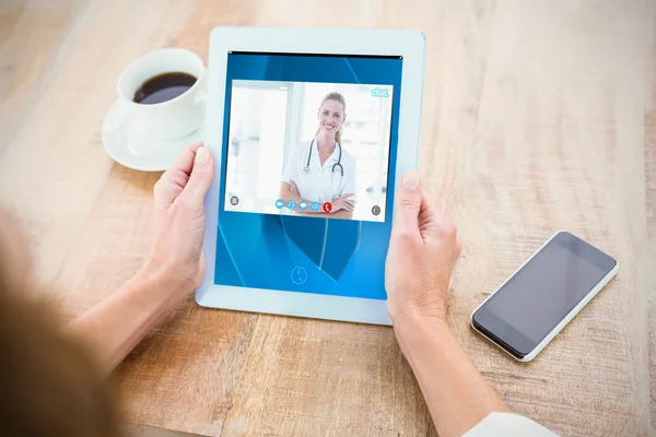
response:
<path id="1" fill-rule="evenodd" d="M 103 121 L 103 145 L 114 161 L 143 172 L 163 172 L 183 149 L 202 141 L 203 121 L 185 138 L 159 139 L 140 132 L 126 114 L 119 99 L 114 102 Z"/>

